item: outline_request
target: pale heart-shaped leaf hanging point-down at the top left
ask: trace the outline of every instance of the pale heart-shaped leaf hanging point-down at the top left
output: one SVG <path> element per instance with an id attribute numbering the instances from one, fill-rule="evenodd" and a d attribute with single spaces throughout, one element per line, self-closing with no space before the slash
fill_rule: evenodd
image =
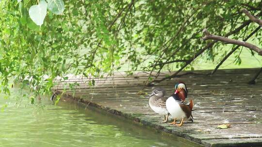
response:
<path id="1" fill-rule="evenodd" d="M 41 26 L 44 23 L 44 19 L 47 15 L 47 2 L 45 0 L 40 0 L 38 5 L 33 5 L 29 9 L 29 16 L 33 22 Z"/>

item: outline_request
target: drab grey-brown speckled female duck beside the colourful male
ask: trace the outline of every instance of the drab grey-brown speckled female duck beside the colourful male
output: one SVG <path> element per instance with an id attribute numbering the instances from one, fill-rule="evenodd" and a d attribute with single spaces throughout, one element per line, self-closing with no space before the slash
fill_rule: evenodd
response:
<path id="1" fill-rule="evenodd" d="M 160 115 L 164 115 L 164 121 L 161 122 L 167 122 L 169 113 L 165 106 L 165 101 L 167 100 L 165 95 L 165 90 L 162 88 L 156 88 L 152 91 L 152 93 L 149 96 L 149 106 L 153 111 Z M 167 117 L 165 117 L 167 115 Z"/>

